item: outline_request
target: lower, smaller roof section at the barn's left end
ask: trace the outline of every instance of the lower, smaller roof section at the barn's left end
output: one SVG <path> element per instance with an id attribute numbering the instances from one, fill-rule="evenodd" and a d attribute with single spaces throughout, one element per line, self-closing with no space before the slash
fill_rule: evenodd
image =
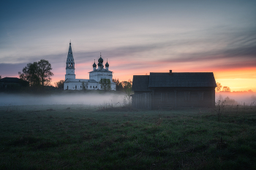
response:
<path id="1" fill-rule="evenodd" d="M 149 75 L 134 75 L 132 80 L 132 90 L 149 91 Z"/>

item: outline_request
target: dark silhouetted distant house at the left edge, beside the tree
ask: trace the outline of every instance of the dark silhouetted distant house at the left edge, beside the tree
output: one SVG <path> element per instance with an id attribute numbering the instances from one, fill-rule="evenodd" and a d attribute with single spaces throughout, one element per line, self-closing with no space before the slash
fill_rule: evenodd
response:
<path id="1" fill-rule="evenodd" d="M 1 90 L 18 90 L 21 87 L 28 87 L 29 82 L 16 77 L 4 77 L 0 80 Z"/>

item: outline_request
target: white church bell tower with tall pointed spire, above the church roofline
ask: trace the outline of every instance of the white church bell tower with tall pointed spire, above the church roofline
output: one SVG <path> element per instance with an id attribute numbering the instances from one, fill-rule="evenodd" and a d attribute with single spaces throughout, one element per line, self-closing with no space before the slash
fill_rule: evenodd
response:
<path id="1" fill-rule="evenodd" d="M 65 80 L 67 79 L 75 79 L 75 61 L 73 58 L 71 42 L 69 42 L 69 52 L 67 53 L 67 62 L 66 62 L 66 74 Z"/>

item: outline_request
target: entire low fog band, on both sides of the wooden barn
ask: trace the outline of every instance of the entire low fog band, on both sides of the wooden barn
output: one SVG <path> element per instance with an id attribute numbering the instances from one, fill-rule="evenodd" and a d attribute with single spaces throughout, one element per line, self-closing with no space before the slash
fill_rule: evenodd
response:
<path id="1" fill-rule="evenodd" d="M 230 98 L 226 104 L 256 105 L 256 93 L 216 93 L 216 101 Z M 255 103 L 253 103 L 255 101 Z M 39 104 L 86 104 L 121 106 L 127 102 L 122 93 L 61 93 L 49 95 L 8 94 L 0 93 L 0 106 L 6 105 L 39 105 Z"/>

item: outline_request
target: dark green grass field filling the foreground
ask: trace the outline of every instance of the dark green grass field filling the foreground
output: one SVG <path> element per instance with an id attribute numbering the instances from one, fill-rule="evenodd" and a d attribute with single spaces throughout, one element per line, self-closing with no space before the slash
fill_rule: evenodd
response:
<path id="1" fill-rule="evenodd" d="M 255 113 L 4 106 L 0 169 L 256 169 Z"/>

